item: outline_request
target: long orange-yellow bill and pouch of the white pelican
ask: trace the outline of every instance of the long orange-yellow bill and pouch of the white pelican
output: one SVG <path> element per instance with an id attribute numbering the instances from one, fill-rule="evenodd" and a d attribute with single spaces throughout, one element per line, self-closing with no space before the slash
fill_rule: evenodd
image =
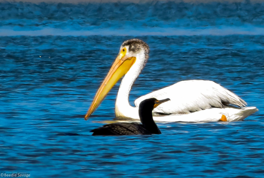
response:
<path id="1" fill-rule="evenodd" d="M 84 117 L 85 120 L 88 120 L 89 116 L 100 105 L 100 103 L 106 97 L 107 93 L 116 84 L 116 82 L 128 72 L 128 70 L 135 63 L 135 61 L 136 57 L 129 57 L 122 52 L 119 53 L 114 63 L 112 64 L 108 74 L 103 80 L 101 86 L 98 88 L 96 95 L 93 98 L 93 102 Z"/>

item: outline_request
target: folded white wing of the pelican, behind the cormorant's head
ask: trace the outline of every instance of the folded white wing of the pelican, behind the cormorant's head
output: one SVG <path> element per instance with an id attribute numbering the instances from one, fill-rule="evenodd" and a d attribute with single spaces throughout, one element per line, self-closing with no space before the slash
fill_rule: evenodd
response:
<path id="1" fill-rule="evenodd" d="M 224 105 L 243 107 L 247 104 L 233 92 L 209 80 L 177 82 L 137 98 L 135 106 L 139 107 L 141 101 L 152 97 L 158 100 L 171 99 L 154 108 L 153 113 L 158 114 L 187 114 L 211 107 L 223 107 Z"/>

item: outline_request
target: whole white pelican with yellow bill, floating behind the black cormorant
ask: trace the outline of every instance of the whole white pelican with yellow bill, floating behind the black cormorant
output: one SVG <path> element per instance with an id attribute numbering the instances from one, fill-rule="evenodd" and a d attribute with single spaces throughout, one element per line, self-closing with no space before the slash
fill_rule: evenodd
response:
<path id="1" fill-rule="evenodd" d="M 139 120 L 139 103 L 147 98 L 170 98 L 153 110 L 153 119 L 164 122 L 239 121 L 258 111 L 213 81 L 187 80 L 141 96 L 135 107 L 129 104 L 129 93 L 149 58 L 149 46 L 140 39 L 130 39 L 120 47 L 112 67 L 98 88 L 85 120 L 100 105 L 107 93 L 122 77 L 115 102 L 116 118 Z M 230 106 L 233 105 L 233 106 Z M 236 107 L 234 107 L 236 106 Z"/>

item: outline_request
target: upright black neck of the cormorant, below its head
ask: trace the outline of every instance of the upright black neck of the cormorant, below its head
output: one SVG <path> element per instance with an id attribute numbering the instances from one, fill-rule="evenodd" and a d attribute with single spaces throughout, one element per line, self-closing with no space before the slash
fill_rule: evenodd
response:
<path id="1" fill-rule="evenodd" d="M 139 110 L 139 117 L 142 125 L 146 130 L 154 134 L 161 134 L 161 131 L 153 120 L 152 110 Z"/>

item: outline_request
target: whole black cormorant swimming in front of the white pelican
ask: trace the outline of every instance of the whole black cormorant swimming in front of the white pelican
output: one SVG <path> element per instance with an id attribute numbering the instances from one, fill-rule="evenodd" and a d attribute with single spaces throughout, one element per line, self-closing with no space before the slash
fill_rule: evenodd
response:
<path id="1" fill-rule="evenodd" d="M 139 105 L 139 118 L 142 124 L 137 122 L 117 122 L 104 125 L 103 127 L 91 130 L 92 135 L 151 135 L 161 134 L 158 126 L 152 117 L 152 110 L 159 104 L 169 99 L 158 101 L 149 98 Z"/>

